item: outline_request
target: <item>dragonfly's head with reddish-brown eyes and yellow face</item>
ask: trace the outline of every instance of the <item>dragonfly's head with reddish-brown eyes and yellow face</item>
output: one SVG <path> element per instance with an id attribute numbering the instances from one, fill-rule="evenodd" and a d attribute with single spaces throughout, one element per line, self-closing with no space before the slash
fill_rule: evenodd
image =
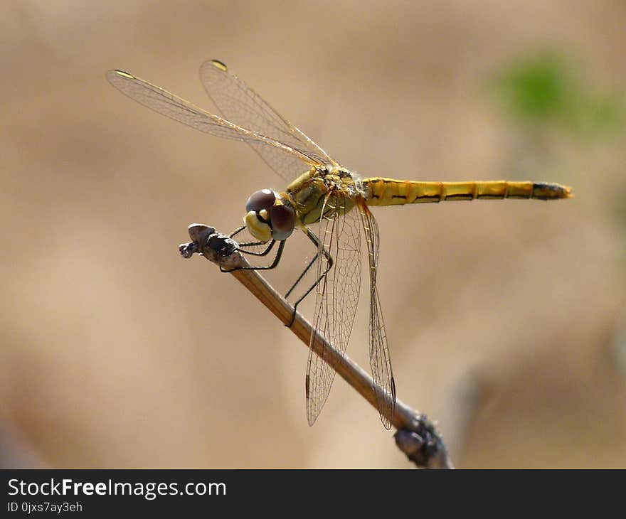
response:
<path id="1" fill-rule="evenodd" d="M 245 204 L 243 222 L 257 240 L 287 240 L 295 227 L 296 215 L 287 200 L 276 191 L 262 189 Z"/>

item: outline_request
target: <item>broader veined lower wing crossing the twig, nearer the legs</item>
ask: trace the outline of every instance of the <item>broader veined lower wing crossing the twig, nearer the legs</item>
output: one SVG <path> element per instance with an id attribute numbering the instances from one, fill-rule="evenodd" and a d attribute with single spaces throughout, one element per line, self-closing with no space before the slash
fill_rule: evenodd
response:
<path id="1" fill-rule="evenodd" d="M 361 231 L 356 211 L 344 216 L 346 205 L 354 203 L 343 196 L 327 196 L 319 224 L 318 276 L 328 267 L 324 250 L 333 264 L 316 287 L 314 331 L 344 354 L 354 324 L 361 289 Z M 311 341 L 314 339 L 312 334 Z M 317 419 L 332 386 L 335 371 L 315 355 L 309 345 L 307 363 L 307 418 Z"/>

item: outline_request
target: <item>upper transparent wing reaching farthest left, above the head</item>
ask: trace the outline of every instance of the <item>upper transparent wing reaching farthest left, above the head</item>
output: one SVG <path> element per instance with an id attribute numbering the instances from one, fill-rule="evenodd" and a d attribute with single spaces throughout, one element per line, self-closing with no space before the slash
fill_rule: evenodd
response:
<path id="1" fill-rule="evenodd" d="M 299 162 L 299 170 L 302 170 L 303 163 L 312 166 L 321 166 L 323 164 L 316 156 L 313 156 L 304 148 L 299 149 L 298 146 L 282 143 L 255 132 L 253 129 L 240 127 L 238 124 L 210 114 L 189 101 L 181 99 L 181 97 L 123 70 L 110 70 L 107 72 L 107 80 L 117 90 L 120 90 L 120 92 L 142 105 L 153 109 L 154 112 L 159 112 L 159 114 L 166 115 L 201 132 L 215 135 L 216 137 L 223 137 L 224 139 L 247 142 L 258 147 L 258 149 L 264 149 L 263 153 L 266 156 L 271 154 L 276 154 L 280 157 L 286 156 L 288 159 L 291 159 L 293 164 Z"/>

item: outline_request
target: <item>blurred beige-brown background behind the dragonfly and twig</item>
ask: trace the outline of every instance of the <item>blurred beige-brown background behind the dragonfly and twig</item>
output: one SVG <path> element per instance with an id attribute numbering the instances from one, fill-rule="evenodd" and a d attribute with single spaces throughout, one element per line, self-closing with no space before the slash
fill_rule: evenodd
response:
<path id="1" fill-rule="evenodd" d="M 282 182 L 247 146 L 154 114 L 104 74 L 212 108 L 208 58 L 363 175 L 573 186 L 558 203 L 375 210 L 398 397 L 437 421 L 460 467 L 626 465 L 624 134 L 544 135 L 536 159 L 486 87 L 555 48 L 590 88 L 624 89 L 625 4 L 2 10 L 4 466 L 410 466 L 343 380 L 309 428 L 306 348 L 230 276 L 178 255 L 189 223 L 231 230 L 250 193 Z M 279 287 L 309 250 L 287 252 Z M 364 366 L 366 330 L 363 305 L 349 355 Z"/>

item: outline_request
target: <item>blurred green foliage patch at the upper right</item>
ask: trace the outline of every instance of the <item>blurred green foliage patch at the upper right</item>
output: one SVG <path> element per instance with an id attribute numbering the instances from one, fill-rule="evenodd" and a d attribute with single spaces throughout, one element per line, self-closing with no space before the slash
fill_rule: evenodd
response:
<path id="1" fill-rule="evenodd" d="M 497 73 L 495 93 L 515 122 L 556 126 L 580 137 L 612 137 L 626 123 L 622 92 L 595 92 L 558 53 L 515 60 Z"/>

